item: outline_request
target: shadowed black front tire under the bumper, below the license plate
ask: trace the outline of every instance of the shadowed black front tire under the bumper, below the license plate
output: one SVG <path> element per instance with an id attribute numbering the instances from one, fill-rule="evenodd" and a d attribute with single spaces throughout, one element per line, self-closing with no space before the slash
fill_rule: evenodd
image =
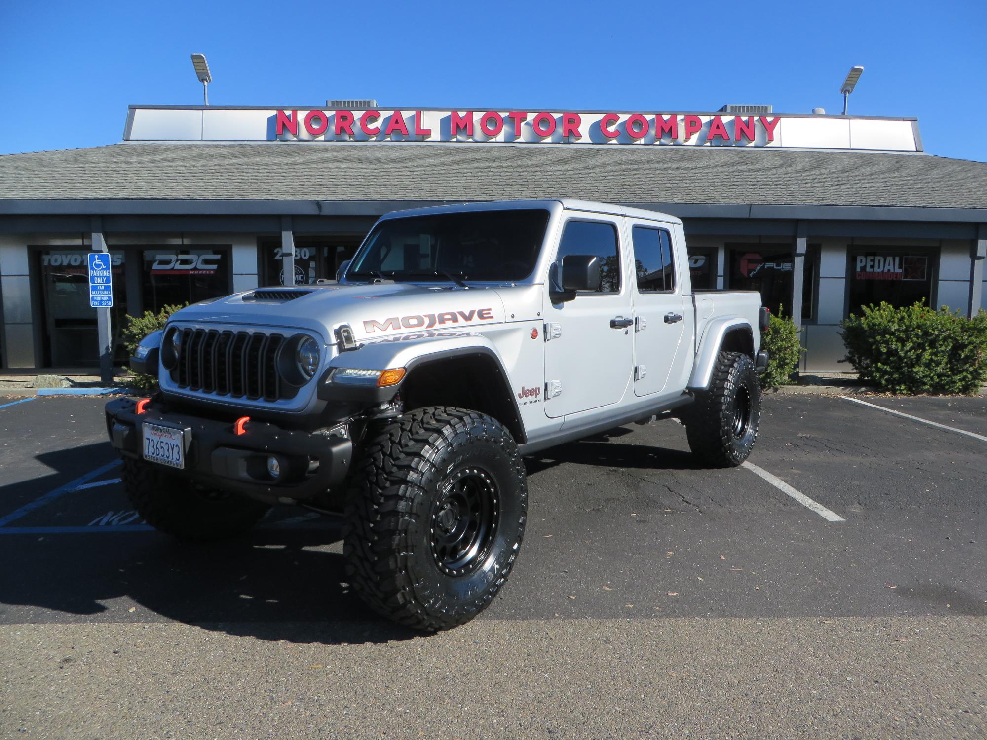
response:
<path id="1" fill-rule="evenodd" d="M 202 488 L 143 460 L 123 458 L 121 478 L 127 498 L 144 521 L 185 542 L 246 534 L 270 508 L 235 493 Z"/>

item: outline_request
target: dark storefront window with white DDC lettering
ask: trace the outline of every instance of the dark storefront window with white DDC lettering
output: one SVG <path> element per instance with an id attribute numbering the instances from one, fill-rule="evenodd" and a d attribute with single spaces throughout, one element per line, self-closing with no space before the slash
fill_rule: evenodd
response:
<path id="1" fill-rule="evenodd" d="M 164 306 L 181 306 L 230 293 L 229 251 L 225 247 L 156 247 L 145 249 L 143 256 L 145 311 L 157 312 Z"/>

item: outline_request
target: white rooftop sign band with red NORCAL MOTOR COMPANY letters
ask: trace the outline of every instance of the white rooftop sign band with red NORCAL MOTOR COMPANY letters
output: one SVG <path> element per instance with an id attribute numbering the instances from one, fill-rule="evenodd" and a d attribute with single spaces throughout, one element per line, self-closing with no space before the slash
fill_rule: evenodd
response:
<path id="1" fill-rule="evenodd" d="M 131 141 L 362 141 L 919 151 L 914 121 L 828 115 L 131 106 Z"/>

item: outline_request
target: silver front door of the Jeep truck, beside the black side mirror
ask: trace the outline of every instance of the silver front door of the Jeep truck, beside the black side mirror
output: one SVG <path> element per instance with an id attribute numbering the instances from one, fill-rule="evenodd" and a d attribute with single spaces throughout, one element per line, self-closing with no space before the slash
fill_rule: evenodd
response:
<path id="1" fill-rule="evenodd" d="M 620 221 L 572 215 L 563 224 L 556 256 L 595 255 L 600 285 L 575 298 L 545 301 L 545 412 L 556 418 L 618 403 L 634 364 L 632 285 L 621 269 Z M 555 271 L 555 270 L 554 270 Z"/>

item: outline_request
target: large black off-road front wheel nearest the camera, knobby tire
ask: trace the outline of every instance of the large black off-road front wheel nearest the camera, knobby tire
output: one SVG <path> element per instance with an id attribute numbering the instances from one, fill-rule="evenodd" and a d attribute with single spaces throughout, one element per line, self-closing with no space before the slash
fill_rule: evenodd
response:
<path id="1" fill-rule="evenodd" d="M 350 586 L 413 629 L 469 622 L 507 580 L 527 505 L 517 445 L 490 416 L 426 407 L 377 425 L 349 477 Z"/>

